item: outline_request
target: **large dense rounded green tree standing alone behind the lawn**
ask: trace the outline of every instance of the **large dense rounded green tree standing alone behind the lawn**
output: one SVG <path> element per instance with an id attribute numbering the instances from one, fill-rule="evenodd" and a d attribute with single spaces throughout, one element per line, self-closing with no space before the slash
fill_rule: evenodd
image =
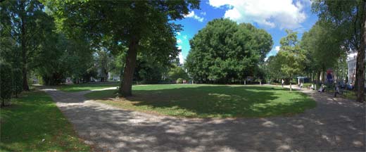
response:
<path id="1" fill-rule="evenodd" d="M 253 76 L 272 47 L 272 37 L 251 24 L 215 19 L 189 43 L 186 66 L 194 80 L 226 83 Z"/>

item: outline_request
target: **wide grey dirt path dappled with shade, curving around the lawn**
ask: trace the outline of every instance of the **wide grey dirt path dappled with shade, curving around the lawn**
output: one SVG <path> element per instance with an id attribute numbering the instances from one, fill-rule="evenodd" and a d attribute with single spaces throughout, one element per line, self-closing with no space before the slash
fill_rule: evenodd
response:
<path id="1" fill-rule="evenodd" d="M 113 108 L 45 89 L 96 151 L 365 151 L 365 105 L 307 91 L 317 108 L 293 117 L 182 119 Z"/>

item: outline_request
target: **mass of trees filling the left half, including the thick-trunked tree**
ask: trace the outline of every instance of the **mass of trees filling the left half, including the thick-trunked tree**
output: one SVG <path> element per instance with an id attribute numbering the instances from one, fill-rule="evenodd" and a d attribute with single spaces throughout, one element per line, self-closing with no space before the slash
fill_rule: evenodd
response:
<path id="1" fill-rule="evenodd" d="M 171 21 L 194 8 L 199 1 L 1 1 L 1 100 L 29 91 L 30 75 L 52 85 L 115 72 L 123 96 L 133 80 L 171 80 L 184 71 L 175 39 L 182 26 Z"/>

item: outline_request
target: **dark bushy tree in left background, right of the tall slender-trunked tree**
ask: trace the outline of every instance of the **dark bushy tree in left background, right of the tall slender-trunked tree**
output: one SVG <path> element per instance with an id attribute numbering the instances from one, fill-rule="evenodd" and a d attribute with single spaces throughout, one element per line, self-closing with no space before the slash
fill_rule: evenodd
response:
<path id="1" fill-rule="evenodd" d="M 96 76 L 92 50 L 85 40 L 52 32 L 45 42 L 48 45 L 34 56 L 38 63 L 34 70 L 42 76 L 44 84 L 61 84 L 66 77 L 89 80 L 90 76 Z"/>

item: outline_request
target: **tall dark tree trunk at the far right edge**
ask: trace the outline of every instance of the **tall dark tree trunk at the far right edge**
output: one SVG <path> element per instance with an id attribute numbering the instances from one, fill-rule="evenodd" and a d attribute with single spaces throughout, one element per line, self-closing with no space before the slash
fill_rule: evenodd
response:
<path id="1" fill-rule="evenodd" d="M 362 1 L 361 12 L 366 10 L 366 3 Z M 357 65 L 356 65 L 356 87 L 357 87 L 357 101 L 365 101 L 365 50 L 366 50 L 366 15 L 362 13 L 361 21 L 361 37 L 360 48 L 357 53 Z"/>

